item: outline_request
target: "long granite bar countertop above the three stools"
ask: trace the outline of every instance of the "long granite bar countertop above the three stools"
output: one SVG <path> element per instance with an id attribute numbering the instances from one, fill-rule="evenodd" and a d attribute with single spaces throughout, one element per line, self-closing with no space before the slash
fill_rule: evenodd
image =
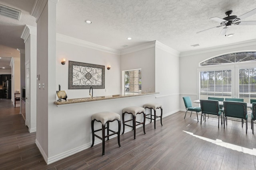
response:
<path id="1" fill-rule="evenodd" d="M 138 93 L 138 94 L 117 94 L 112 96 L 99 96 L 99 97 L 93 97 L 93 98 L 77 98 L 77 99 L 68 99 L 67 101 L 62 99 L 62 102 L 54 102 L 56 105 L 61 104 L 74 104 L 74 103 L 80 103 L 80 102 L 91 102 L 91 101 L 97 101 L 97 100 L 107 100 L 107 99 L 115 99 L 115 98 L 126 98 L 126 97 L 132 97 L 132 96 L 143 96 L 143 95 L 149 95 L 149 94 L 158 94 L 157 92 L 154 93 Z"/>

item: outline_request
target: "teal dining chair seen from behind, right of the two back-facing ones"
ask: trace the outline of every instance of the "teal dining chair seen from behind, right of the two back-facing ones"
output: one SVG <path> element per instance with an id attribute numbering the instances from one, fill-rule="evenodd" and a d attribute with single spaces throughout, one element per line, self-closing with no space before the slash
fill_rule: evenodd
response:
<path id="1" fill-rule="evenodd" d="M 223 107 L 224 107 L 224 129 L 225 129 L 225 121 L 226 125 L 228 125 L 227 117 L 235 117 L 242 119 L 242 127 L 243 127 L 243 121 L 246 121 L 246 133 L 247 133 L 247 103 L 245 102 L 234 102 L 234 101 L 223 101 Z"/>

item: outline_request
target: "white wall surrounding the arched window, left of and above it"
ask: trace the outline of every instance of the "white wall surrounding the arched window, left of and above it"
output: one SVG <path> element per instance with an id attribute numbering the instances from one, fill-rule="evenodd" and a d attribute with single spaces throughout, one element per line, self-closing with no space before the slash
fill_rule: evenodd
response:
<path id="1" fill-rule="evenodd" d="M 216 47 L 212 49 L 205 49 L 202 51 L 191 51 L 190 53 L 183 53 L 180 57 L 180 108 L 185 110 L 183 96 L 190 96 L 191 100 L 199 98 L 198 88 L 199 80 L 197 75 L 197 68 L 199 63 L 211 57 L 221 55 L 224 53 L 231 53 L 235 51 L 250 51 L 256 50 L 255 42 L 249 42 L 239 45 L 230 45 L 226 47 Z M 196 104 L 192 104 L 196 106 Z"/>

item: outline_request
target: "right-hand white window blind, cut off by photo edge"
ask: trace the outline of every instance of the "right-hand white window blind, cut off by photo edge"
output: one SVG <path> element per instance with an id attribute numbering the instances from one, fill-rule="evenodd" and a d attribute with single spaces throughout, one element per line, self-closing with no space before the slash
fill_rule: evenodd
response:
<path id="1" fill-rule="evenodd" d="M 239 69 L 239 98 L 256 99 L 256 68 Z"/>

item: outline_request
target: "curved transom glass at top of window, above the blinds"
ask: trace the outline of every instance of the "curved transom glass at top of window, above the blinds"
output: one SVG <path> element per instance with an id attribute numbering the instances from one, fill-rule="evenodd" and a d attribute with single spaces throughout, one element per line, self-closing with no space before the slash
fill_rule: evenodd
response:
<path id="1" fill-rule="evenodd" d="M 199 66 L 241 63 L 248 61 L 256 61 L 256 51 L 235 52 L 219 55 L 217 57 L 207 59 L 206 61 L 202 61 Z"/>

